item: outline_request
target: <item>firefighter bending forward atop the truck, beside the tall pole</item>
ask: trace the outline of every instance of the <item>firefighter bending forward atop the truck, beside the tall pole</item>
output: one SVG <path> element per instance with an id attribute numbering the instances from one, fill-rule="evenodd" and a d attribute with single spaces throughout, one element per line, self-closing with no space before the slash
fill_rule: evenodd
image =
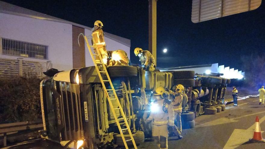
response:
<path id="1" fill-rule="evenodd" d="M 135 48 L 134 49 L 135 56 L 139 56 L 141 65 L 147 71 L 154 71 L 154 57 L 153 55 L 147 51 L 143 50 L 142 48 Z"/>

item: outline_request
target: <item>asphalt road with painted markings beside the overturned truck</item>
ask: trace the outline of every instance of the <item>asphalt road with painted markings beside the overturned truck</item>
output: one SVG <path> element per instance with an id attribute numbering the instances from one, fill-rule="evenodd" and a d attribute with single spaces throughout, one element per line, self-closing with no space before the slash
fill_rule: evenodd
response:
<path id="1" fill-rule="evenodd" d="M 264 149 L 265 143 L 249 143 L 253 137 L 255 118 L 259 116 L 261 130 L 265 131 L 265 107 L 259 105 L 258 98 L 247 98 L 238 101 L 238 107 L 229 104 L 225 111 L 216 115 L 202 115 L 195 119 L 195 128 L 184 129 L 183 139 L 177 137 L 168 138 L 169 149 Z M 265 133 L 262 133 L 265 137 Z M 31 141 L 27 144 L 10 147 L 9 149 L 46 149 L 61 148 L 59 144 L 42 140 Z M 141 148 L 158 149 L 153 141 L 144 142 L 138 146 Z"/>

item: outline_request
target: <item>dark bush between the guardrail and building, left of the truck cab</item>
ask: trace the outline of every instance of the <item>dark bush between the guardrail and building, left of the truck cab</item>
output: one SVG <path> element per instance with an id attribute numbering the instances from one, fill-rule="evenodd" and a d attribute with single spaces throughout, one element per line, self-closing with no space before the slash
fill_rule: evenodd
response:
<path id="1" fill-rule="evenodd" d="M 31 76 L 0 79 L 0 123 L 41 118 L 39 83 Z"/>

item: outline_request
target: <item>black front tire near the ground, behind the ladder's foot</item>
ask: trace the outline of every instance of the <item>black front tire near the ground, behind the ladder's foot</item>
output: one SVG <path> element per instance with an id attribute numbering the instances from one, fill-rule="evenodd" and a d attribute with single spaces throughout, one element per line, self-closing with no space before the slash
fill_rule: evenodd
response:
<path id="1" fill-rule="evenodd" d="M 124 135 L 125 140 L 129 140 L 131 139 L 129 135 Z M 141 143 L 143 143 L 145 141 L 145 134 L 142 131 L 136 131 L 136 133 L 133 134 L 133 139 L 135 141 L 135 144 L 139 145 Z M 121 138 L 121 135 L 114 135 L 114 141 L 115 144 L 117 144 L 118 146 L 124 146 L 123 140 Z M 133 142 L 132 141 L 128 141 L 127 142 L 128 146 L 133 146 Z"/>

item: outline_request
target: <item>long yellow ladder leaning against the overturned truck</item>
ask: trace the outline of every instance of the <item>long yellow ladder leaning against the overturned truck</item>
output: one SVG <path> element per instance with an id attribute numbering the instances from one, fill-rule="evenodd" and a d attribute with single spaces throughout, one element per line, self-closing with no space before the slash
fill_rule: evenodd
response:
<path id="1" fill-rule="evenodd" d="M 111 107 L 111 111 L 112 111 L 112 113 L 113 113 L 113 115 L 114 115 L 115 121 L 116 121 L 117 126 L 118 126 L 118 128 L 119 128 L 120 135 L 121 135 L 121 138 L 122 138 L 122 140 L 123 140 L 124 145 L 125 145 L 126 149 L 129 149 L 129 148 L 128 148 L 128 145 L 127 145 L 127 141 L 132 141 L 132 142 L 133 142 L 133 146 L 134 146 L 134 148 L 137 149 L 137 146 L 136 146 L 136 143 L 135 143 L 135 141 L 134 141 L 134 138 L 133 138 L 133 135 L 132 135 L 131 129 L 130 129 L 129 125 L 128 125 L 128 122 L 127 122 L 126 117 L 125 117 L 125 115 L 124 115 L 123 109 L 122 109 L 122 107 L 121 107 L 121 105 L 120 105 L 120 101 L 119 101 L 119 99 L 118 99 L 118 97 L 117 97 L 117 94 L 116 94 L 115 89 L 114 89 L 114 87 L 113 87 L 113 84 L 112 84 L 112 82 L 111 82 L 111 79 L 110 79 L 110 76 L 109 76 L 109 74 L 108 74 L 107 68 L 106 68 L 106 66 L 104 65 L 103 61 L 102 61 L 102 57 L 101 57 L 101 55 L 99 54 L 100 52 L 98 51 L 98 47 L 97 47 L 96 44 L 95 44 L 95 46 L 89 45 L 89 42 L 88 42 L 86 36 L 85 36 L 83 33 L 80 33 L 79 36 L 80 36 L 80 35 L 82 35 L 82 36 L 84 37 L 85 41 L 86 41 L 87 48 L 88 48 L 88 50 L 89 50 L 89 53 L 90 53 L 90 55 L 91 55 L 91 58 L 92 58 L 93 63 L 94 63 L 94 65 L 95 65 L 95 68 L 96 68 L 96 70 L 97 70 L 97 73 L 98 73 L 99 79 L 100 79 L 100 81 L 101 81 L 101 84 L 102 84 L 102 86 L 103 86 L 103 88 L 104 88 L 104 92 L 105 92 L 105 94 L 107 95 L 108 102 L 109 102 L 110 107 Z M 93 39 L 92 39 L 92 40 L 93 40 Z M 78 41 L 78 43 L 79 43 L 79 41 Z M 93 41 L 93 43 L 95 43 L 95 42 Z M 93 54 L 93 53 L 92 53 L 92 51 L 91 51 L 91 47 L 92 47 L 92 48 L 96 48 L 96 51 L 97 51 L 96 54 Z M 96 62 L 94 56 L 98 56 L 99 59 L 100 59 L 100 62 Z M 102 67 L 103 67 L 103 71 L 100 71 L 100 70 L 98 69 L 98 66 L 102 66 Z M 102 79 L 102 76 L 101 76 L 101 73 L 104 73 L 104 74 L 107 76 L 108 79 L 107 79 L 107 80 L 103 80 L 103 79 Z M 105 86 L 105 83 L 109 83 L 110 86 L 111 86 L 111 89 L 107 89 L 106 86 Z M 110 98 L 108 91 L 113 92 L 113 94 L 114 94 L 114 98 Z M 112 100 L 116 100 L 116 101 L 117 101 L 117 103 L 118 103 L 118 108 L 114 108 L 114 107 L 113 107 L 112 102 L 111 102 Z M 122 115 L 122 118 L 117 118 L 117 115 L 116 115 L 115 110 L 120 110 L 120 113 L 121 113 L 121 115 Z M 125 125 L 126 125 L 126 128 L 125 128 L 125 129 L 121 129 L 121 127 L 120 127 L 120 122 L 119 122 L 120 120 L 123 120 L 123 121 L 124 121 L 124 123 L 125 123 Z M 123 131 L 125 131 L 125 130 L 127 130 L 127 131 L 129 132 L 129 135 L 130 135 L 130 139 L 128 139 L 128 140 L 125 140 L 124 135 L 123 135 Z"/>

